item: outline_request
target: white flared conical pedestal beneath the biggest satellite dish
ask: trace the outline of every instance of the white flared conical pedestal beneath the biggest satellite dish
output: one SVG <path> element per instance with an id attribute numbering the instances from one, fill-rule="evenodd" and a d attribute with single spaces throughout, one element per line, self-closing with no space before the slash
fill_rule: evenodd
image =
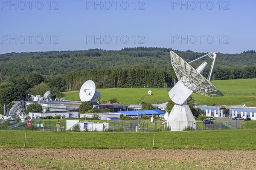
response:
<path id="1" fill-rule="evenodd" d="M 185 102 L 183 105 L 174 105 L 167 119 L 167 127 L 171 131 L 182 131 L 184 127 L 193 127 L 195 129 L 195 118 Z"/>

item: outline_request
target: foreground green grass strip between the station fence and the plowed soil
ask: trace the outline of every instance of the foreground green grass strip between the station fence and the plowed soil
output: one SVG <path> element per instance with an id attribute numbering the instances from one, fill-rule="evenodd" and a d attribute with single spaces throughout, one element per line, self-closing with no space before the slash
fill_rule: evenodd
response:
<path id="1" fill-rule="evenodd" d="M 181 132 L 53 132 L 0 130 L 0 148 L 256 150 L 255 129 Z M 155 134 L 154 147 L 152 146 Z"/>

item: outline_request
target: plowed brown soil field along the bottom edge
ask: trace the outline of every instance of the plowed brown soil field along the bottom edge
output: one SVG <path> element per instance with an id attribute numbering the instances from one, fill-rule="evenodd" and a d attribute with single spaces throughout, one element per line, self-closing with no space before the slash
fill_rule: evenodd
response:
<path id="1" fill-rule="evenodd" d="M 256 150 L 0 149 L 1 170 L 254 170 Z"/>

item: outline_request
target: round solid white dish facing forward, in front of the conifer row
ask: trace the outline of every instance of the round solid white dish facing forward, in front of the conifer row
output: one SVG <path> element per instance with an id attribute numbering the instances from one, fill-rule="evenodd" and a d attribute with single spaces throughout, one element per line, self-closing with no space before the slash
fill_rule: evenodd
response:
<path id="1" fill-rule="evenodd" d="M 97 103 L 99 103 L 100 93 L 96 91 L 95 83 L 92 80 L 87 80 L 86 82 L 84 82 L 80 89 L 79 97 L 82 102 L 97 102 L 96 100 L 98 100 Z"/>

